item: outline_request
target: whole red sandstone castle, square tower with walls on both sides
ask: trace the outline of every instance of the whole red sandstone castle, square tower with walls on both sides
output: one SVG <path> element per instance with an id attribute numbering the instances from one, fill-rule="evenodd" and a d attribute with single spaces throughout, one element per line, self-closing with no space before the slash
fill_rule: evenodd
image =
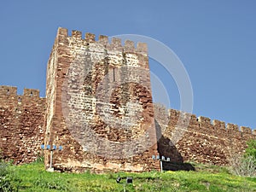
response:
<path id="1" fill-rule="evenodd" d="M 0 86 L 0 149 L 15 164 L 55 150 L 52 166 L 68 172 L 159 170 L 153 155 L 172 162 L 228 165 L 256 139 L 248 127 L 154 105 L 147 44 L 59 28 L 39 90 Z M 52 147 L 51 147 L 52 148 Z"/>

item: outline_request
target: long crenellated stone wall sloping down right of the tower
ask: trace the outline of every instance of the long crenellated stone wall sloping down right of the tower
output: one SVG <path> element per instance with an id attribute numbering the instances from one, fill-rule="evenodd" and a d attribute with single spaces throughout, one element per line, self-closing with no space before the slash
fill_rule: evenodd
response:
<path id="1" fill-rule="evenodd" d="M 238 125 L 174 109 L 169 110 L 165 122 L 168 123 L 160 125 L 163 132 L 158 149 L 160 155 L 171 157 L 174 162 L 195 161 L 226 166 L 234 154 L 244 153 L 248 140 L 256 139 L 256 131 L 248 127 L 239 129 Z"/>

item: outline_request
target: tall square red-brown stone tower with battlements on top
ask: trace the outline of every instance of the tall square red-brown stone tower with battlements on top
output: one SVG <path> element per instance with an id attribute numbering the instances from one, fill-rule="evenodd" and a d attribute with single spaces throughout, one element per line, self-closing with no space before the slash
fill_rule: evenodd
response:
<path id="1" fill-rule="evenodd" d="M 59 28 L 46 84 L 45 142 L 53 167 L 95 172 L 160 169 L 146 44 Z M 49 167 L 49 152 L 45 152 Z"/>

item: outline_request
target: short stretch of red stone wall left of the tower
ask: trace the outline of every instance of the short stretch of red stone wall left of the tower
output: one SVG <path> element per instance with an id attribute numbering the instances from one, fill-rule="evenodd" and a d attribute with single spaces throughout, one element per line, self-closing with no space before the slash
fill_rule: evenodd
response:
<path id="1" fill-rule="evenodd" d="M 5 160 L 15 164 L 37 159 L 44 143 L 45 99 L 38 90 L 0 86 L 0 152 Z"/>

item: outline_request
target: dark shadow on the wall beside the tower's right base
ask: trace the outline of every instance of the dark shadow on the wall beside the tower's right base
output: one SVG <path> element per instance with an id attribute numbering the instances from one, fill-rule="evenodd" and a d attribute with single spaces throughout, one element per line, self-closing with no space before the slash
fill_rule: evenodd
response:
<path id="1" fill-rule="evenodd" d="M 154 120 L 156 137 L 157 137 L 157 150 L 161 156 L 170 158 L 171 161 L 163 161 L 164 171 L 195 171 L 195 167 L 189 163 L 183 162 L 183 156 L 177 151 L 177 148 L 168 137 L 162 135 L 159 123 Z"/>

